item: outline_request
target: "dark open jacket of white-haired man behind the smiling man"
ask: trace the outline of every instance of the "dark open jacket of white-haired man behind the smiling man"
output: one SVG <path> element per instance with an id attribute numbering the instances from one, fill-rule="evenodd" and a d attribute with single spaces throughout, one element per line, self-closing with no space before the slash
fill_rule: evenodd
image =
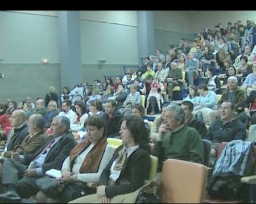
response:
<path id="1" fill-rule="evenodd" d="M 221 99 L 218 101 L 218 107 L 221 106 L 223 101 L 228 100 L 228 92 L 229 92 L 229 88 L 227 88 L 226 90 L 224 90 L 222 92 L 222 96 Z M 242 104 L 245 102 L 246 100 L 246 93 L 243 90 L 240 90 L 240 88 L 237 88 L 236 91 L 234 91 L 234 105 L 237 107 L 242 107 Z"/>

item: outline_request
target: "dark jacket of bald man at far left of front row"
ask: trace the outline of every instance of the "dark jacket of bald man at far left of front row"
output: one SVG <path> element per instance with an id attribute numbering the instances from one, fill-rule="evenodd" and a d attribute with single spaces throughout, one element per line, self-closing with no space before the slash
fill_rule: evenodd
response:
<path id="1" fill-rule="evenodd" d="M 18 129 L 14 128 L 12 131 L 14 131 L 14 135 L 7 145 L 7 151 L 11 151 L 16 145 L 20 145 L 24 138 L 28 135 L 27 123 Z"/>

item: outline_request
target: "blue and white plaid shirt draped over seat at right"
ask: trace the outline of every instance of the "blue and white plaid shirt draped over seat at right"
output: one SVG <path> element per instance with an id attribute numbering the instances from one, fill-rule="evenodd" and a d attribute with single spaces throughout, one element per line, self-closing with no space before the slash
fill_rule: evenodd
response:
<path id="1" fill-rule="evenodd" d="M 222 150 L 220 158 L 216 161 L 213 169 L 213 176 L 217 173 L 233 172 L 243 176 L 246 171 L 246 164 L 253 142 L 233 140 Z"/>

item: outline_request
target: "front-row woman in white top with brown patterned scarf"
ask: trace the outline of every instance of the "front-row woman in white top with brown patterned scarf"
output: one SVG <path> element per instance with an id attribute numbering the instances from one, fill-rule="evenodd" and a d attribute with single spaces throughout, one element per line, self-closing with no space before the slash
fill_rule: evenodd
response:
<path id="1" fill-rule="evenodd" d="M 71 150 L 61 168 L 60 180 L 66 181 L 67 184 L 61 191 L 57 190 L 57 186 L 41 189 L 42 191 L 36 194 L 39 203 L 67 203 L 72 199 L 96 193 L 96 189 L 89 188 L 86 183 L 100 180 L 114 149 L 106 141 L 106 128 L 101 118 L 89 117 L 84 126 L 88 137 Z M 45 176 L 44 181 L 47 180 L 51 182 L 52 179 Z"/>

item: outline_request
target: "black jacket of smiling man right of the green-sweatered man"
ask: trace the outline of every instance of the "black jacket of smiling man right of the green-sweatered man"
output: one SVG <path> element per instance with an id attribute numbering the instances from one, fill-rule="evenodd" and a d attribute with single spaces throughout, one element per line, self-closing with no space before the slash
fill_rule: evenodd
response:
<path id="1" fill-rule="evenodd" d="M 221 142 L 230 142 L 234 139 L 242 139 L 243 141 L 246 138 L 246 127 L 238 118 L 229 121 L 225 125 L 223 122 L 218 119 L 210 125 L 209 131 L 204 139 L 209 139 L 212 142 L 221 143 Z"/>

